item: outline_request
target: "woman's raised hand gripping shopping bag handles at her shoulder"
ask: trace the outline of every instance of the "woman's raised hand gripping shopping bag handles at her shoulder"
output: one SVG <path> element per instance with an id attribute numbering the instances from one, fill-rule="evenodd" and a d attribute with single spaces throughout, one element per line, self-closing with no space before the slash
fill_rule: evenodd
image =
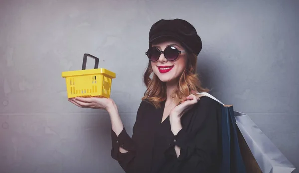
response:
<path id="1" fill-rule="evenodd" d="M 170 118 L 180 119 L 184 112 L 191 109 L 200 99 L 191 94 L 186 97 L 186 100 L 177 105 L 170 111 Z"/>

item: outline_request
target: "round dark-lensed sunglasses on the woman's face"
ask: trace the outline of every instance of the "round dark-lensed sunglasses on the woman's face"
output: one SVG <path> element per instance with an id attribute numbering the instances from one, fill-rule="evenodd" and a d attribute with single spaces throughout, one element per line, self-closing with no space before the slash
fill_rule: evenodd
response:
<path id="1" fill-rule="evenodd" d="M 185 51 L 180 51 L 177 48 L 173 46 L 168 46 L 165 48 L 164 51 L 160 51 L 156 47 L 150 47 L 148 51 L 146 52 L 146 55 L 148 56 L 150 61 L 157 61 L 160 58 L 161 54 L 164 54 L 165 58 L 168 61 L 174 61 L 177 59 L 178 55 L 180 53 L 184 53 Z"/>

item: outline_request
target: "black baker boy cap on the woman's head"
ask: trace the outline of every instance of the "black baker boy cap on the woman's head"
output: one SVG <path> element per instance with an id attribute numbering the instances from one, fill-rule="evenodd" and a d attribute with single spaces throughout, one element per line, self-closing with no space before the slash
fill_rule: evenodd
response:
<path id="1" fill-rule="evenodd" d="M 152 25 L 149 31 L 149 45 L 161 37 L 172 37 L 180 41 L 189 51 L 196 55 L 202 49 L 201 38 L 197 35 L 196 29 L 186 20 L 172 19 L 159 20 Z"/>

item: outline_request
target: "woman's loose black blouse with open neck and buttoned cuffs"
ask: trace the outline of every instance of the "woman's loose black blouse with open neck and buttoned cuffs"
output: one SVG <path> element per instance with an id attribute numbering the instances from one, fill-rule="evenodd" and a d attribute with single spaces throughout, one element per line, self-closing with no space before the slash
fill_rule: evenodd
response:
<path id="1" fill-rule="evenodd" d="M 169 116 L 161 123 L 161 108 L 142 101 L 132 138 L 125 128 L 116 136 L 111 130 L 111 156 L 126 173 L 216 173 L 221 160 L 221 108 L 202 97 L 181 118 L 182 129 L 173 135 Z M 177 158 L 174 146 L 181 148 Z M 119 152 L 119 147 L 128 150 Z"/>

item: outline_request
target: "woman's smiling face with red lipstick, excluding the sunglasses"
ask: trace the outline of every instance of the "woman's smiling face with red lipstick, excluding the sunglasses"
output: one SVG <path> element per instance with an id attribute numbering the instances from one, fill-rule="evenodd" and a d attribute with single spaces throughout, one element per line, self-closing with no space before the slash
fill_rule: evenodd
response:
<path id="1" fill-rule="evenodd" d="M 187 64 L 187 53 L 183 46 L 177 41 L 162 41 L 152 44 L 152 47 L 158 48 L 160 51 L 164 51 L 167 47 L 171 46 L 172 49 L 176 48 L 182 53 L 178 54 L 178 57 L 174 61 L 169 61 L 162 53 L 157 61 L 151 62 L 153 72 L 158 76 L 162 82 L 176 82 L 182 75 Z"/>

